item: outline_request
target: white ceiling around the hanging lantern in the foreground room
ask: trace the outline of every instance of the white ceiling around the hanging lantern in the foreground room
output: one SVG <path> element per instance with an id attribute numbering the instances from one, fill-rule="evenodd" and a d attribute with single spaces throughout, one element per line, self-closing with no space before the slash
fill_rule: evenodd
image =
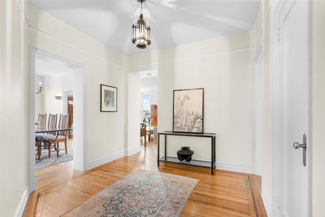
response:
<path id="1" fill-rule="evenodd" d="M 151 28 L 151 45 L 139 49 L 131 41 L 131 27 L 141 11 L 137 0 L 29 3 L 125 55 L 251 30 L 260 5 L 257 0 L 147 0 L 143 3 L 143 18 Z"/>

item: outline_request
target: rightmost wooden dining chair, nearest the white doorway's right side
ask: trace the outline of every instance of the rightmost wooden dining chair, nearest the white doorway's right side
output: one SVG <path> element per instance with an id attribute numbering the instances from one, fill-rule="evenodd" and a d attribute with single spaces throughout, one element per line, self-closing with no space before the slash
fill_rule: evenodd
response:
<path id="1" fill-rule="evenodd" d="M 68 128 L 69 127 L 69 114 L 60 114 L 59 117 L 59 128 Z M 68 153 L 68 133 L 69 131 L 59 131 L 57 139 L 55 140 L 54 146 L 56 146 L 57 150 L 66 149 L 66 154 Z M 48 140 L 47 142 L 53 142 L 56 136 L 53 136 L 53 139 Z M 64 142 L 64 149 L 60 149 L 59 143 Z M 49 147 L 49 158 L 51 157 L 51 148 Z M 54 148 L 54 147 L 53 147 Z"/>

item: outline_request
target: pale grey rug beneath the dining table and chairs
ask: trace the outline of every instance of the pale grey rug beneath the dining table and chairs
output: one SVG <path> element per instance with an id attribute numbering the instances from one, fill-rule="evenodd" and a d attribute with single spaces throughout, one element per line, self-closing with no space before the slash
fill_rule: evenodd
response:
<path id="1" fill-rule="evenodd" d="M 37 155 L 37 151 L 35 151 L 35 170 L 39 170 L 54 164 L 59 164 L 71 160 L 73 160 L 73 147 L 68 146 L 67 154 L 66 154 L 66 150 L 60 150 L 59 157 L 56 156 L 56 151 L 52 149 L 51 158 L 49 158 L 48 149 L 42 149 L 40 160 L 39 160 L 39 156 Z"/>

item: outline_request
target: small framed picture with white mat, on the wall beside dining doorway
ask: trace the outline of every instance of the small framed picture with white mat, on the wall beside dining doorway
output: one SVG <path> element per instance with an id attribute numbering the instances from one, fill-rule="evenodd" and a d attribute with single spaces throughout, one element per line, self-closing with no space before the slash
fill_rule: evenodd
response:
<path id="1" fill-rule="evenodd" d="M 101 84 L 101 111 L 117 111 L 117 87 Z"/>

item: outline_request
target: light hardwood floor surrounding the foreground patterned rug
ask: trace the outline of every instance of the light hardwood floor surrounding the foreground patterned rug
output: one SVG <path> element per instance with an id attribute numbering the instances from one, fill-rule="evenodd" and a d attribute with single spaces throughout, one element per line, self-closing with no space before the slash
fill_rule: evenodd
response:
<path id="1" fill-rule="evenodd" d="M 142 140 L 140 140 L 142 143 Z M 147 142 L 129 157 L 80 172 L 65 162 L 36 171 L 37 187 L 23 216 L 60 216 L 110 184 L 138 169 L 160 171 L 200 179 L 180 216 L 267 216 L 261 199 L 261 177 L 160 162 L 157 145 Z"/>

